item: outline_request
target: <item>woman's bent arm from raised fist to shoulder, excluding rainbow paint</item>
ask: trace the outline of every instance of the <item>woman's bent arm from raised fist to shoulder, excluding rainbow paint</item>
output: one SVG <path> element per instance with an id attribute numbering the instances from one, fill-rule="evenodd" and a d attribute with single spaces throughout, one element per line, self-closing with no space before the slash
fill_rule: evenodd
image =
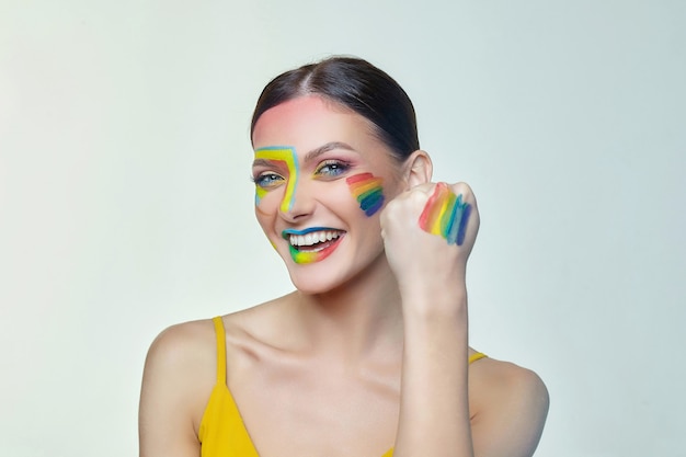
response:
<path id="1" fill-rule="evenodd" d="M 448 244 L 439 233 L 420 229 L 420 215 L 432 204 L 436 188 L 435 184 L 415 186 L 389 203 L 382 215 L 387 258 L 399 283 L 404 322 L 395 456 L 530 456 L 547 411 L 542 384 L 535 375 L 526 376 L 530 372 L 499 374 L 502 363 L 482 362 L 499 369 L 482 376 L 489 381 L 480 389 L 484 395 L 479 398 L 484 400 L 473 408 L 478 411 L 473 419 L 470 415 L 465 277 L 479 214 L 471 190 L 457 184 L 453 193 L 471 205 L 461 242 Z"/>

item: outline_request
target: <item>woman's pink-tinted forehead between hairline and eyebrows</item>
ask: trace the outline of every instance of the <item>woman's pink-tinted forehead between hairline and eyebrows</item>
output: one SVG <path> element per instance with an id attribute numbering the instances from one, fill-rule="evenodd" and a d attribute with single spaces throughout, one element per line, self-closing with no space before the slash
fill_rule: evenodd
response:
<path id="1" fill-rule="evenodd" d="M 318 95 L 300 96 L 265 111 L 255 123 L 252 140 L 255 150 L 287 145 L 298 152 L 332 141 L 358 150 L 371 141 L 380 142 L 366 118 Z"/>

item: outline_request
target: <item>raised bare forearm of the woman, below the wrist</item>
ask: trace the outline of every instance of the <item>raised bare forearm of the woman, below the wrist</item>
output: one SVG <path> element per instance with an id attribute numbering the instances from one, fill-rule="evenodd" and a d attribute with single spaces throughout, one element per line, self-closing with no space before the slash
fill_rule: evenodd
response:
<path id="1" fill-rule="evenodd" d="M 441 295 L 403 298 L 402 391 L 395 457 L 473 456 L 467 296 L 464 287 Z M 427 299 L 431 302 L 418 302 Z"/>

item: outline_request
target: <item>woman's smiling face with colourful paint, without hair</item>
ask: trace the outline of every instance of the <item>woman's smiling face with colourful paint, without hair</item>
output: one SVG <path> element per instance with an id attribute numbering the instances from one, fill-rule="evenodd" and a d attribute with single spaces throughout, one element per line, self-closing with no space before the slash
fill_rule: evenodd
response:
<path id="1" fill-rule="evenodd" d="M 377 264 L 379 213 L 403 185 L 370 123 L 308 95 L 267 110 L 252 139 L 255 214 L 296 287 L 327 292 Z"/>

